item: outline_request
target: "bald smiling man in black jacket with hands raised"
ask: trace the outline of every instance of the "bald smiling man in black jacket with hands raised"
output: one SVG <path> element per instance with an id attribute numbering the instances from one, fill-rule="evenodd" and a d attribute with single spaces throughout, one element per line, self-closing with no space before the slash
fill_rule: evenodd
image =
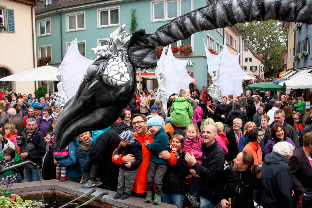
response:
<path id="1" fill-rule="evenodd" d="M 202 137 L 202 164 L 196 162 L 195 157 L 189 153 L 185 154 L 187 162 L 193 165 L 193 171 L 190 170 L 194 177 L 200 177 L 198 196 L 200 207 L 214 207 L 217 204 L 217 178 L 223 172 L 225 154 L 223 149 L 217 144 L 217 128 L 214 125 L 207 125 L 203 130 Z M 194 172 L 195 171 L 195 172 Z"/>

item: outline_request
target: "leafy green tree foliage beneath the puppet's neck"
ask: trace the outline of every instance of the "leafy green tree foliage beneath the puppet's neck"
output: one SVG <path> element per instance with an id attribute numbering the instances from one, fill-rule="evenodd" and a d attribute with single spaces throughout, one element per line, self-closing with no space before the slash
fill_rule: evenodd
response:
<path id="1" fill-rule="evenodd" d="M 281 22 L 269 20 L 265 22 L 245 22 L 236 25 L 246 31 L 247 38 L 244 43 L 251 47 L 255 53 L 263 56 L 266 72 L 275 73 L 283 69 L 286 48 L 287 31 L 283 30 Z M 260 45 L 259 49 L 257 45 Z M 270 59 L 267 57 L 270 55 Z M 273 66 L 273 69 L 271 67 Z"/>

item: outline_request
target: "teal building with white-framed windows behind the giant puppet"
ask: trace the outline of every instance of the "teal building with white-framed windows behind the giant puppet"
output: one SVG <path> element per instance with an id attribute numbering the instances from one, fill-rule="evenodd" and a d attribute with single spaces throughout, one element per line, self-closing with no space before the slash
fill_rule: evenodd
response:
<path id="1" fill-rule="evenodd" d="M 71 40 L 78 39 L 81 54 L 88 59 L 95 59 L 91 48 L 105 45 L 111 32 L 126 23 L 130 32 L 132 15 L 136 16 L 137 29 L 146 33 L 156 31 L 160 26 L 175 17 L 204 7 L 214 1 L 209 0 L 119 0 L 119 1 L 66 1 L 45 0 L 35 7 L 37 58 L 51 55 L 51 65 L 58 67 L 66 54 Z M 236 30 L 236 32 L 239 32 Z M 207 47 L 220 53 L 223 48 L 225 30 L 198 32 L 186 40 L 179 40 L 172 46 L 191 46 L 193 52 L 187 56 L 176 54 L 179 59 L 189 59 L 186 66 L 190 76 L 195 78 L 199 87 L 211 84 L 207 73 L 207 59 L 203 40 Z M 237 35 L 235 40 L 237 41 Z M 240 39 L 243 44 L 243 38 Z M 229 46 L 228 46 L 229 47 Z M 242 47 L 236 47 L 240 53 Z M 242 58 L 241 58 L 242 60 Z M 241 61 L 241 66 L 243 66 Z M 148 89 L 157 88 L 154 74 L 137 73 L 137 78 L 145 80 Z M 142 83 L 142 82 L 141 82 Z M 193 87 L 193 83 L 190 87 Z M 38 83 L 39 85 L 41 83 Z M 51 86 L 56 91 L 56 83 Z"/>

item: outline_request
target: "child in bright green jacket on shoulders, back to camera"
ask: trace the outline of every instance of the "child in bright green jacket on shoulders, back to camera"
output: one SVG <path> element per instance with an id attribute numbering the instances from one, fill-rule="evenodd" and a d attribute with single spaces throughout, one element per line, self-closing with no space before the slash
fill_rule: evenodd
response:
<path id="1" fill-rule="evenodd" d="M 193 117 L 193 108 L 191 102 L 188 100 L 190 92 L 185 89 L 181 89 L 179 96 L 173 100 L 170 118 L 171 124 L 178 127 L 186 127 L 190 125 Z"/>

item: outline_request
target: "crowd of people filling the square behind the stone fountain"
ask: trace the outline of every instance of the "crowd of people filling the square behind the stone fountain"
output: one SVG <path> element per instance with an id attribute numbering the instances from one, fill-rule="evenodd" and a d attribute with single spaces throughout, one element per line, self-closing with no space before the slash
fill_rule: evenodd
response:
<path id="1" fill-rule="evenodd" d="M 5 180 L 22 182 L 25 172 L 29 182 L 73 181 L 116 191 L 115 200 L 179 208 L 312 207 L 312 111 L 303 123 L 303 97 L 246 87 L 219 101 L 195 86 L 162 103 L 156 91 L 137 90 L 111 126 L 56 151 L 54 94 L 0 89 L 1 165 L 31 160 L 41 171 L 25 166 Z"/>

